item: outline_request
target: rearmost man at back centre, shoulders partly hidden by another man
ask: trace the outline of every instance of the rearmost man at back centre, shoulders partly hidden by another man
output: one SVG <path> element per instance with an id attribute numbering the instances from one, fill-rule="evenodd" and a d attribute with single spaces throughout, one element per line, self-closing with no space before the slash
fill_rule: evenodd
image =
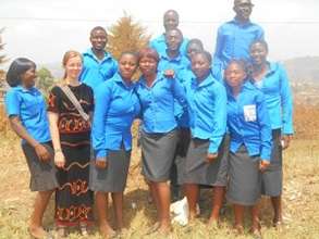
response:
<path id="1" fill-rule="evenodd" d="M 163 25 L 164 25 L 165 33 L 168 30 L 177 28 L 179 23 L 180 23 L 180 16 L 175 10 L 168 10 L 164 13 Z M 149 47 L 155 49 L 160 55 L 162 54 L 162 52 L 165 52 L 165 50 L 168 49 L 168 46 L 165 42 L 165 33 L 163 33 L 159 37 L 155 38 L 149 43 Z M 188 40 L 186 38 L 184 38 L 183 42 L 181 45 L 180 50 L 183 55 L 186 55 L 186 53 L 187 53 L 187 51 L 186 51 L 187 42 L 188 42 Z"/>

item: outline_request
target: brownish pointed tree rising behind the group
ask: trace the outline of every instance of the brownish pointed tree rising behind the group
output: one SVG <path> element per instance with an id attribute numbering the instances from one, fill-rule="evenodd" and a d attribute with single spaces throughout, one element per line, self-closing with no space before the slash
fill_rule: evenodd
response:
<path id="1" fill-rule="evenodd" d="M 148 46 L 150 35 L 146 28 L 134 23 L 132 16 L 124 13 L 114 25 L 109 28 L 107 51 L 119 59 L 123 51 L 138 52 Z"/>

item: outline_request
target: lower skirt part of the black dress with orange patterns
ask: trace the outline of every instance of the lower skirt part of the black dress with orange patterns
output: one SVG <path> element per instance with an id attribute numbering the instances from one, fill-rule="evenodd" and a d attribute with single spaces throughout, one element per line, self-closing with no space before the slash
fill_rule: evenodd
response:
<path id="1" fill-rule="evenodd" d="M 94 193 L 88 189 L 90 147 L 62 144 L 62 151 L 65 166 L 57 172 L 60 187 L 56 191 L 56 224 L 90 224 L 94 221 Z"/>

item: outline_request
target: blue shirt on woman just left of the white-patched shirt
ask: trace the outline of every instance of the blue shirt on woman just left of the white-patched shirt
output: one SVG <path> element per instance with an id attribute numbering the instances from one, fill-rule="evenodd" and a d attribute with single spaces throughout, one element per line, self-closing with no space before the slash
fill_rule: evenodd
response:
<path id="1" fill-rule="evenodd" d="M 208 153 L 218 152 L 226 128 L 226 92 L 211 75 L 186 84 L 192 138 L 209 139 Z"/>

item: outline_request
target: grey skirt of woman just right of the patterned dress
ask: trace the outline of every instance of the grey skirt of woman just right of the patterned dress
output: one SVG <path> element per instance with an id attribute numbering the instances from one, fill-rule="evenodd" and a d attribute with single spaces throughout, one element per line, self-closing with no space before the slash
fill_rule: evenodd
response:
<path id="1" fill-rule="evenodd" d="M 108 166 L 98 168 L 95 160 L 90 161 L 89 189 L 102 192 L 122 192 L 126 187 L 131 150 L 109 150 L 107 156 Z"/>

